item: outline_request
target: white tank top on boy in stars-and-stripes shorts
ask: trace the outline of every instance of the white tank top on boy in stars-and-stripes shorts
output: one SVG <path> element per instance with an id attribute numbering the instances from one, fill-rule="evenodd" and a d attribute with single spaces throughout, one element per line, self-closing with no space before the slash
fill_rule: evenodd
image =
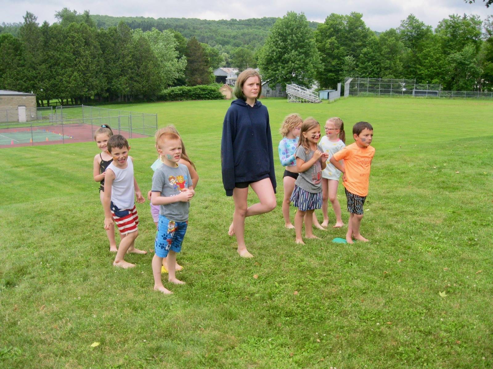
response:
<path id="1" fill-rule="evenodd" d="M 107 168 L 115 173 L 111 185 L 111 201 L 120 209 L 132 209 L 135 204 L 134 163 L 130 157 L 127 159 L 127 164 L 125 169 L 120 169 L 112 161 Z"/>

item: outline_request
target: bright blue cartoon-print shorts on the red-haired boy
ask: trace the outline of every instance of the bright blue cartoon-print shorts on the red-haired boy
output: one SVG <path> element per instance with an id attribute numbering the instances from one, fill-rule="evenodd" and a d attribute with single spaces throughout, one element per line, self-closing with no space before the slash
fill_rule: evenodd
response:
<path id="1" fill-rule="evenodd" d="M 156 241 L 154 243 L 154 252 L 156 255 L 166 257 L 170 249 L 180 252 L 187 226 L 188 221 L 176 222 L 160 214 L 157 224 Z"/>

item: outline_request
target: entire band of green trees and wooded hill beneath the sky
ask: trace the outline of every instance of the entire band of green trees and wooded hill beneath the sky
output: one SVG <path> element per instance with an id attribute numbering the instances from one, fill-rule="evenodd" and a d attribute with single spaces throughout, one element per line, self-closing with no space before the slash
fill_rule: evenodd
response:
<path id="1" fill-rule="evenodd" d="M 0 89 L 33 91 L 40 105 L 152 100 L 170 86 L 213 82 L 219 66 L 257 65 L 264 80 L 282 86 L 335 88 L 347 76 L 416 79 L 455 91 L 493 86 L 492 16 L 451 15 L 433 30 L 411 14 L 385 32 L 371 31 L 356 12 L 319 24 L 295 12 L 244 21 L 140 17 L 132 18 L 143 27 L 135 30 L 129 20 L 88 11 L 64 8 L 56 18 L 39 26 L 27 12 L 23 23 L 0 26 Z M 176 25 L 183 33 L 164 29 Z M 248 27 L 265 37 L 256 48 L 240 36 Z M 211 30 L 218 38 L 201 42 Z M 226 46 L 217 43 L 228 35 Z"/>

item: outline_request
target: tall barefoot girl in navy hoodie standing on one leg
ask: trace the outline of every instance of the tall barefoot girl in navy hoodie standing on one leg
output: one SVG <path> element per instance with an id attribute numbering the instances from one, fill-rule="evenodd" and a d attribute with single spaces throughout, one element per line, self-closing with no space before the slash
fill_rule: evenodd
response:
<path id="1" fill-rule="evenodd" d="M 245 245 L 245 217 L 276 208 L 276 173 L 272 152 L 269 113 L 257 97 L 262 91 L 260 75 L 248 68 L 238 76 L 235 95 L 222 127 L 221 169 L 226 196 L 233 196 L 235 212 L 228 234 L 236 236 L 238 253 L 252 257 Z M 248 206 L 248 186 L 260 202 Z"/>

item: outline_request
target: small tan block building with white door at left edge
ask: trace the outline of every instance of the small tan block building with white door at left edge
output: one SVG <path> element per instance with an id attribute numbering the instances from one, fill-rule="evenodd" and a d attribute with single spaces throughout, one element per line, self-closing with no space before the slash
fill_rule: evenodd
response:
<path id="1" fill-rule="evenodd" d="M 35 119 L 35 93 L 0 90 L 0 122 L 27 122 Z"/>

